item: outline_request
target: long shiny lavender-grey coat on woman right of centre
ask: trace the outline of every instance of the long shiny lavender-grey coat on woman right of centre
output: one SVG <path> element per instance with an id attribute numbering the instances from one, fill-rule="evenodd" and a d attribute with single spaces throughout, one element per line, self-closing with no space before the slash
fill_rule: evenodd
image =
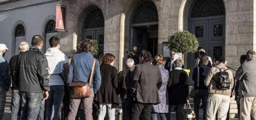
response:
<path id="1" fill-rule="evenodd" d="M 164 69 L 163 66 L 158 66 L 162 74 L 162 86 L 158 91 L 160 98 L 160 103 L 153 106 L 152 111 L 156 113 L 168 113 L 168 93 L 167 93 L 167 83 L 169 81 L 169 72 Z"/>

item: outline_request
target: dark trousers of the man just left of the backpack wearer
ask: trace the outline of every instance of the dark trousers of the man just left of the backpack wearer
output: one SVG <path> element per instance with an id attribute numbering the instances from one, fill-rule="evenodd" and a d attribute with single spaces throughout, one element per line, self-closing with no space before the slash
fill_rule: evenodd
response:
<path id="1" fill-rule="evenodd" d="M 200 107 L 201 99 L 202 99 L 202 105 L 203 105 L 203 120 L 206 120 L 207 98 L 208 98 L 208 90 L 204 90 L 204 89 L 199 89 L 198 94 L 193 98 L 194 113 L 195 113 L 196 120 L 199 120 L 198 116 L 199 116 L 199 107 Z"/>

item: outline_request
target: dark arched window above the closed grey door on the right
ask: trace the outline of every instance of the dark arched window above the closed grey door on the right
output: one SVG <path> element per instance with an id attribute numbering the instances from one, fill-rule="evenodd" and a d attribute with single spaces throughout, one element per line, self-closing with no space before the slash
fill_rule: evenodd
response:
<path id="1" fill-rule="evenodd" d="M 223 0 L 196 0 L 191 18 L 225 15 Z"/>

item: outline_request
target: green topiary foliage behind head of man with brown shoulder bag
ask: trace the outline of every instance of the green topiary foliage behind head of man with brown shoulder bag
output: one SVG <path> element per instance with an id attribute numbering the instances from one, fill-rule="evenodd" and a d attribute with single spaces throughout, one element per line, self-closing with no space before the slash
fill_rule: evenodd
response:
<path id="1" fill-rule="evenodd" d="M 91 39 L 85 39 L 85 40 L 90 40 L 93 42 L 93 52 L 92 54 L 94 55 L 94 57 L 97 57 L 98 53 L 99 53 L 99 47 L 98 47 L 98 41 L 97 40 L 91 40 Z M 81 53 L 82 52 L 82 42 L 80 41 L 77 45 L 76 45 L 76 50 L 75 53 Z"/>

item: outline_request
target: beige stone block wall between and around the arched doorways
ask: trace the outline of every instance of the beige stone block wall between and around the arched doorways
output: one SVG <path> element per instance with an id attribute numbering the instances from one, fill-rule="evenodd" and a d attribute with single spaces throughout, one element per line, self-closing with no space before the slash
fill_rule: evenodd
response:
<path id="1" fill-rule="evenodd" d="M 73 54 L 77 41 L 81 40 L 85 15 L 92 7 L 101 9 L 104 26 L 104 53 L 110 52 L 117 59 L 115 67 L 121 71 L 129 50 L 130 19 L 134 8 L 144 0 L 61 0 L 67 9 L 67 30 L 59 33 L 65 45 L 63 51 Z M 178 29 L 188 29 L 189 12 L 193 0 L 152 0 L 159 14 L 158 53 L 162 54 L 162 42 Z M 254 48 L 254 8 L 253 0 L 224 0 L 225 57 L 228 65 L 237 69 L 239 56 Z M 185 58 L 187 56 L 185 55 Z M 185 66 L 186 66 L 185 59 Z"/>

